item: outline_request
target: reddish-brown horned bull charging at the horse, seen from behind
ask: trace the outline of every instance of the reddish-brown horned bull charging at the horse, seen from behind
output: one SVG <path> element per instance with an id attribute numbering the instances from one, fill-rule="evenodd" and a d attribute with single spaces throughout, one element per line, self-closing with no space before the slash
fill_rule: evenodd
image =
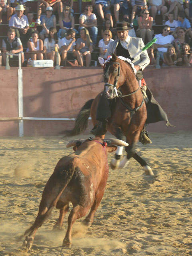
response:
<path id="1" fill-rule="evenodd" d="M 117 139 L 109 139 L 109 141 L 118 146 L 128 145 Z M 68 228 L 63 246 L 70 247 L 72 226 L 75 220 L 85 216 L 91 209 L 84 220 L 84 224 L 90 226 L 103 198 L 109 171 L 107 152 L 113 152 L 117 146 L 107 146 L 107 143 L 100 138 L 89 138 L 83 143 L 81 140 L 75 140 L 69 142 L 67 147 L 69 146 L 74 146 L 75 152 L 61 158 L 55 166 L 44 188 L 38 216 L 24 234 L 28 234 L 23 242 L 23 248 L 26 251 L 32 247 L 36 231 L 54 207 L 60 210 L 55 227 L 61 228 L 63 218 L 69 210 L 69 202 L 73 204 L 73 209 L 68 217 Z"/>

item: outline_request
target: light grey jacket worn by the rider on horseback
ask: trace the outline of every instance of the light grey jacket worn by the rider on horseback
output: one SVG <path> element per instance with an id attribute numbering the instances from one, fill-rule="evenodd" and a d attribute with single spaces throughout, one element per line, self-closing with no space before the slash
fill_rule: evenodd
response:
<path id="1" fill-rule="evenodd" d="M 112 53 L 116 54 L 116 48 L 117 48 L 117 45 L 119 43 L 120 43 L 120 40 L 116 39 L 116 40 L 114 40 L 113 42 L 111 42 L 109 44 L 109 48 L 108 48 L 107 52 L 105 53 L 105 58 L 107 58 L 107 56 L 109 56 L 109 55 L 112 55 Z M 143 40 L 141 38 L 131 37 L 131 36 L 128 36 L 126 38 L 126 45 L 127 45 L 127 49 L 129 50 L 129 54 L 130 54 L 131 58 L 137 52 L 142 50 L 143 47 L 144 47 L 144 43 L 143 43 Z M 146 68 L 146 66 L 148 66 L 149 63 L 150 63 L 150 59 L 148 57 L 148 53 L 147 53 L 146 50 L 143 51 L 141 53 L 141 55 L 137 56 L 133 60 L 133 64 L 140 66 L 141 70 L 144 70 L 144 68 Z"/>

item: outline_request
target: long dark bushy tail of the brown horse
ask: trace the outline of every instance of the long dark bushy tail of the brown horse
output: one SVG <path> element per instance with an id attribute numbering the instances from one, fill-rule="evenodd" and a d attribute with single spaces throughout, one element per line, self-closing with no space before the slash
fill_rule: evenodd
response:
<path id="1" fill-rule="evenodd" d="M 75 119 L 75 126 L 73 127 L 72 130 L 65 130 L 60 132 L 60 134 L 64 135 L 65 137 L 67 136 L 75 136 L 79 135 L 87 129 L 88 126 L 88 119 L 90 116 L 91 112 L 91 105 L 93 103 L 94 99 L 88 100 L 81 110 L 79 111 L 79 114 L 77 115 Z"/>

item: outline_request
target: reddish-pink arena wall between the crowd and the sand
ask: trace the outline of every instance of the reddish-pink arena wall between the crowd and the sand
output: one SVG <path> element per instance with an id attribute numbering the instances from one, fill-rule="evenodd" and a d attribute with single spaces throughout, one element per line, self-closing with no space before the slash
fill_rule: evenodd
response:
<path id="1" fill-rule="evenodd" d="M 192 130 L 191 68 L 146 68 L 144 77 L 154 97 L 176 127 L 150 124 L 152 132 Z M 0 68 L 0 117 L 18 116 L 17 68 Z M 83 104 L 103 90 L 102 68 L 23 68 L 25 117 L 74 118 Z M 57 135 L 74 121 L 24 120 L 24 136 Z M 89 129 L 92 124 L 90 121 Z M 87 130 L 88 132 L 89 130 Z M 18 136 L 18 120 L 0 121 L 0 136 Z"/>

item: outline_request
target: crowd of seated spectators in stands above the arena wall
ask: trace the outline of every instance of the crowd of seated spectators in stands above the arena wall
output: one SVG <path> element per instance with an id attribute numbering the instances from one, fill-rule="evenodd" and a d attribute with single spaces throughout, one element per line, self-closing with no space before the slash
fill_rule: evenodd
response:
<path id="1" fill-rule="evenodd" d="M 79 27 L 75 29 L 73 0 L 40 0 L 34 15 L 25 6 L 25 0 L 1 0 L 0 23 L 6 14 L 9 26 L 7 37 L 2 40 L 0 65 L 6 64 L 6 52 L 21 53 L 25 59 L 56 59 L 65 66 L 67 53 L 71 52 L 78 66 L 90 66 L 91 52 L 99 48 L 104 56 L 109 44 L 117 39 L 114 24 L 121 20 L 132 27 L 130 36 L 141 37 L 146 44 L 153 37 L 157 40 L 148 49 L 150 64 L 156 64 L 156 52 L 164 66 L 192 65 L 192 3 L 188 0 L 91 0 L 79 15 Z M 42 17 L 41 13 L 45 15 Z M 155 34 L 156 15 L 162 16 L 162 33 Z M 34 19 L 36 16 L 36 19 Z M 42 23 L 40 33 L 37 25 Z M 101 40 L 98 38 L 98 23 Z M 56 24 L 60 29 L 57 32 Z M 114 25 L 115 26 L 115 25 Z M 135 29 L 136 28 L 136 29 Z M 26 53 L 24 53 L 24 49 Z M 56 58 L 58 52 L 58 58 Z M 10 55 L 9 58 L 13 56 Z M 14 56 L 16 58 L 16 56 Z"/>

